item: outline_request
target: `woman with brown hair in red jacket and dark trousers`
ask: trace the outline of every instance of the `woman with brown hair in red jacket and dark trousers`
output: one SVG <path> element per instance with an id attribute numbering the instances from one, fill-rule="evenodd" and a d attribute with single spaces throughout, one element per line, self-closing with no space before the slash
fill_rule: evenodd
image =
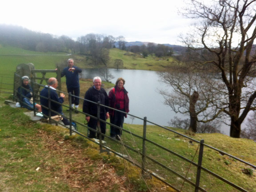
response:
<path id="1" fill-rule="evenodd" d="M 110 126 L 110 136 L 117 140 L 120 140 L 122 135 L 121 128 L 123 128 L 124 117 L 127 117 L 127 114 L 123 113 L 129 112 L 129 97 L 128 92 L 124 88 L 125 80 L 123 78 L 118 78 L 116 80 L 116 86 L 111 89 L 108 94 L 109 107 L 115 108 L 119 111 L 109 109 L 110 123 L 114 124 L 120 128 L 115 128 Z"/>

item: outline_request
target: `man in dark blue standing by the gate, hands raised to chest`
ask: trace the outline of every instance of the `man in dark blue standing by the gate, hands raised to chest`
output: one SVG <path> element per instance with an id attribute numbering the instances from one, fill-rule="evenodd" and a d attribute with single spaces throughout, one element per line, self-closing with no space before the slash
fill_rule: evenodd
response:
<path id="1" fill-rule="evenodd" d="M 61 77 L 66 76 L 66 85 L 68 89 L 68 93 L 71 92 L 71 105 L 72 108 L 76 108 L 78 110 L 79 107 L 79 95 L 80 95 L 80 84 L 79 84 L 79 73 L 82 72 L 82 69 L 74 66 L 74 60 L 68 59 L 68 67 L 64 68 L 61 72 Z M 78 113 L 76 111 L 76 113 Z"/>

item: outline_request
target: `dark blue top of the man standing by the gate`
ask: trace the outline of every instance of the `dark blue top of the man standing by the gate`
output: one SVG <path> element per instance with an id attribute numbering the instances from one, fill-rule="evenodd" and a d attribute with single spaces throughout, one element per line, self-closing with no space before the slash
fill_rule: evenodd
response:
<path id="1" fill-rule="evenodd" d="M 69 67 L 64 68 L 63 71 L 61 72 L 61 77 L 66 76 L 67 88 L 80 87 L 78 73 L 82 72 L 82 69 L 80 69 L 76 66 L 73 66 L 73 68 L 75 68 L 75 71 L 73 71 L 73 72 L 68 71 Z"/>

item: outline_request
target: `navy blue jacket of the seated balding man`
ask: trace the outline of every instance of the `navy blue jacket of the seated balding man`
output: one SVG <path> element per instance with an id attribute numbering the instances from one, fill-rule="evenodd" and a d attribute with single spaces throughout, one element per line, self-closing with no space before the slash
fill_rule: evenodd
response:
<path id="1" fill-rule="evenodd" d="M 50 98 L 51 100 L 55 100 L 59 103 L 63 103 L 63 97 L 59 97 L 58 94 L 56 93 L 55 89 L 52 88 L 48 88 L 48 86 L 45 86 L 45 88 L 42 89 L 42 91 L 40 92 L 40 96 L 44 96 L 48 98 L 48 89 L 50 89 Z M 49 110 L 44 108 L 43 106 L 48 108 L 48 99 L 45 99 L 43 97 L 40 97 L 40 104 L 42 105 L 42 112 L 44 115 L 48 116 L 49 114 Z M 62 113 L 62 105 L 55 103 L 55 102 L 51 102 L 51 110 L 56 111 L 58 113 Z M 58 114 L 56 114 L 55 112 L 51 111 L 51 116 L 56 116 Z"/>

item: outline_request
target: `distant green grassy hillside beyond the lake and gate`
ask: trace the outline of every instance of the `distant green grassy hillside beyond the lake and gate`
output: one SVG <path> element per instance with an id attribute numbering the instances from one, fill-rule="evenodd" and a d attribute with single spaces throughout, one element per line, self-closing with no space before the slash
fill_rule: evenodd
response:
<path id="1" fill-rule="evenodd" d="M 139 54 L 126 52 L 113 48 L 110 50 L 110 68 L 116 68 L 114 61 L 121 59 L 124 62 L 123 68 L 140 69 L 140 70 L 164 70 L 166 66 L 172 65 L 174 60 L 172 57 L 158 58 L 148 56 L 143 58 Z M 21 48 L 0 45 L 0 74 L 11 75 L 16 70 L 16 66 L 22 63 L 33 63 L 36 69 L 54 69 L 56 64 L 64 63 L 68 58 L 72 57 L 75 64 L 81 68 L 92 68 L 86 61 L 85 56 L 66 55 L 65 53 L 55 52 L 33 52 Z"/>

